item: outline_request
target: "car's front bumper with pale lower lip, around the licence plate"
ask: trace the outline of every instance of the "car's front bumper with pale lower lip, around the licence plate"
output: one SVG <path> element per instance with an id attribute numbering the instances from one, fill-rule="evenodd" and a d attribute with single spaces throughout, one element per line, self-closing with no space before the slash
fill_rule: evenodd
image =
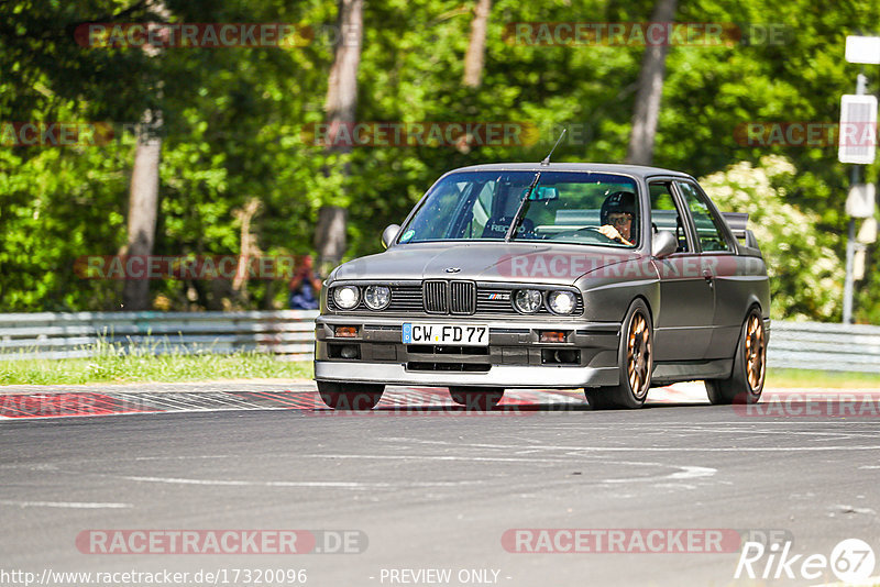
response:
<path id="1" fill-rule="evenodd" d="M 487 346 L 403 344 L 403 324 L 461 322 L 490 326 Z M 354 326 L 340 337 L 337 326 Z M 540 342 L 541 331 L 563 332 Z M 386 385 L 572 388 L 616 385 L 620 324 L 480 317 L 324 314 L 316 321 L 315 378 Z"/>

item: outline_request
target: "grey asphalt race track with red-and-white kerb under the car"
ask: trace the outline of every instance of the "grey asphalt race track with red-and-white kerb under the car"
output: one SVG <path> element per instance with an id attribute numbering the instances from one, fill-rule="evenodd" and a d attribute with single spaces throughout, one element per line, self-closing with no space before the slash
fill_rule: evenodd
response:
<path id="1" fill-rule="evenodd" d="M 827 560 L 843 540 L 880 554 L 877 392 L 768 390 L 748 411 L 689 384 L 653 390 L 642 410 L 593 411 L 575 391 L 519 391 L 468 412 L 446 390 L 389 388 L 373 412 L 348 414 L 311 384 L 43 389 L 0 396 L 0 585 L 24 573 L 108 584 L 61 572 L 117 573 L 114 585 L 145 584 L 127 572 L 189 573 L 166 585 L 821 585 L 838 580 Z M 593 542 L 547 552 L 573 549 L 560 529 Z M 132 552 L 145 542 L 121 530 L 308 532 L 294 554 L 201 542 L 180 554 Z M 668 552 L 632 539 L 652 531 Z M 708 531 L 723 552 L 679 540 Z M 101 552 L 113 536 L 116 553 Z M 735 578 L 740 540 L 767 547 L 754 579 Z M 785 547 L 801 555 L 795 578 L 773 580 Z M 827 565 L 806 578 L 813 554 Z"/>

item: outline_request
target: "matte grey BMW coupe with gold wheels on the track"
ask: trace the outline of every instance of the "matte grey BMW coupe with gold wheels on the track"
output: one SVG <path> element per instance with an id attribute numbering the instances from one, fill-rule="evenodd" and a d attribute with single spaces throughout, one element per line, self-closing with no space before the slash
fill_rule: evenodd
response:
<path id="1" fill-rule="evenodd" d="M 770 289 L 747 220 L 667 169 L 455 169 L 385 230 L 384 253 L 327 278 L 318 390 L 337 409 L 372 409 L 386 385 L 484 409 L 505 388 L 638 408 L 651 387 L 704 379 L 713 403 L 756 402 Z"/>

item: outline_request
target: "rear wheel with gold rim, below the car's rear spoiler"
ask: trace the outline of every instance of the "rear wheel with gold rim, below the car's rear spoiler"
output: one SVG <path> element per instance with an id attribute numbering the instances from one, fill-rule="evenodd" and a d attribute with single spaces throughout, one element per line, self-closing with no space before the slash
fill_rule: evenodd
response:
<path id="1" fill-rule="evenodd" d="M 739 331 L 734 368 L 726 379 L 706 379 L 706 395 L 716 406 L 758 403 L 767 374 L 767 333 L 758 308 L 752 308 Z"/>

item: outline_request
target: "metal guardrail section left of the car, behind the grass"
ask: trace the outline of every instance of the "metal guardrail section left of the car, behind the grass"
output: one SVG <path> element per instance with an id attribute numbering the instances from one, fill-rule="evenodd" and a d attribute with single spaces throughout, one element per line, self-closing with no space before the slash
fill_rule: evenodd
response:
<path id="1" fill-rule="evenodd" d="M 317 310 L 0 314 L 0 357 L 95 356 L 100 344 L 151 354 L 261 351 L 306 361 Z"/>

